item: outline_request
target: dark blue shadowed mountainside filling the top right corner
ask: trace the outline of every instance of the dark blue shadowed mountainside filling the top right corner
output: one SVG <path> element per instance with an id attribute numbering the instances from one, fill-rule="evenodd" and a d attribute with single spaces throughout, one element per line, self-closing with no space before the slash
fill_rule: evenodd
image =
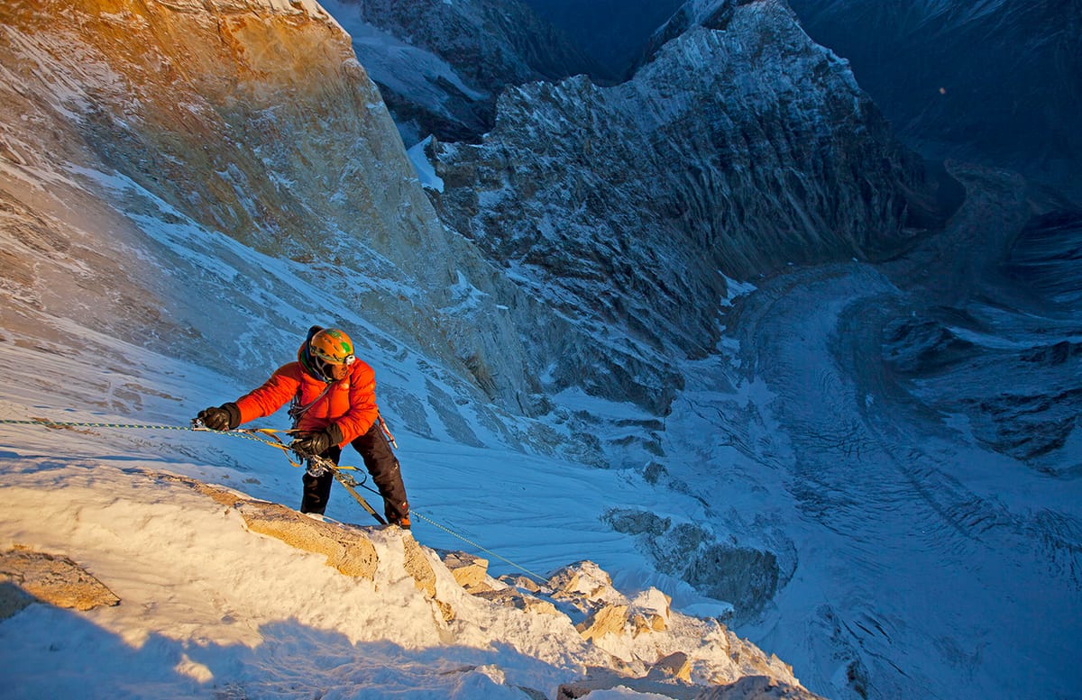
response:
<path id="1" fill-rule="evenodd" d="M 790 0 L 907 144 L 1011 167 L 1082 205 L 1082 17 L 1057 0 Z"/>

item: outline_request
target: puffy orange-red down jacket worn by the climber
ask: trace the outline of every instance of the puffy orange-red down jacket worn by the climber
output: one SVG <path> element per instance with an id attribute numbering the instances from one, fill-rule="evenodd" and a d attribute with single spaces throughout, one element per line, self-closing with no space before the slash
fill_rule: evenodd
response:
<path id="1" fill-rule="evenodd" d="M 325 389 L 327 393 L 320 396 Z M 296 428 L 322 430 L 338 426 L 342 431 L 340 446 L 368 432 L 380 415 L 375 405 L 375 373 L 360 360 L 349 365 L 344 379 L 330 385 L 309 375 L 300 362 L 289 362 L 275 369 L 262 387 L 237 399 L 240 422 L 269 416 L 299 393 L 301 405 L 311 407 Z"/>

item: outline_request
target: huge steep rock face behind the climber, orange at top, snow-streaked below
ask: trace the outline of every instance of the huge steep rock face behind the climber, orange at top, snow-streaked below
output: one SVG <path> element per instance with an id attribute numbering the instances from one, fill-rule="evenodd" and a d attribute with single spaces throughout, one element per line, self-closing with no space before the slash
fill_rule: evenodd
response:
<path id="1" fill-rule="evenodd" d="M 5 331 L 255 381 L 308 323 L 361 318 L 481 402 L 536 410 L 518 328 L 543 310 L 437 220 L 322 8 L 47 0 L 0 18 Z"/>

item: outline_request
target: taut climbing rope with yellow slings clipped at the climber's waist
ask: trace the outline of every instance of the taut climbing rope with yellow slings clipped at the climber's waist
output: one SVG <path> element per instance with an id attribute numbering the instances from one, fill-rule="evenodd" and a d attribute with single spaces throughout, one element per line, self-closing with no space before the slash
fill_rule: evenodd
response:
<path id="1" fill-rule="evenodd" d="M 253 440 L 269 447 L 280 449 L 282 454 L 286 456 L 286 459 L 289 460 L 290 465 L 296 467 L 298 469 L 305 469 L 303 465 L 294 461 L 290 457 L 291 450 L 289 448 L 289 445 L 282 442 L 281 437 L 278 436 L 280 434 L 292 434 L 293 433 L 292 430 L 277 430 L 274 428 L 234 428 L 233 430 L 212 430 L 210 428 L 207 428 L 206 426 L 202 426 L 201 422 L 198 421 L 198 419 L 194 419 L 190 426 L 159 426 L 154 423 L 70 422 L 62 420 L 49 420 L 48 418 L 32 418 L 29 420 L 0 418 L 0 425 L 37 426 L 42 428 L 116 428 L 123 430 L 181 430 L 181 431 L 216 433 L 220 435 L 229 435 L 233 437 Z M 391 443 L 395 445 L 395 447 L 397 447 L 398 445 L 395 444 L 394 437 L 392 437 L 390 431 L 387 431 L 386 425 L 383 422 L 382 417 L 380 418 L 380 427 L 386 433 L 388 440 L 391 440 Z M 335 465 L 326 457 L 306 456 L 306 458 L 309 461 L 316 460 L 320 467 L 329 469 L 334 474 L 335 481 L 338 481 L 340 484 L 342 484 L 342 486 L 345 487 L 345 489 L 349 493 L 351 496 L 354 497 L 354 499 L 357 500 L 357 502 L 361 506 L 361 508 L 364 508 L 380 524 L 386 525 L 386 521 L 383 517 L 381 517 L 379 513 L 375 512 L 375 510 L 368 503 L 368 501 L 364 499 L 364 497 L 360 494 L 357 493 L 356 489 L 357 487 L 361 487 L 373 494 L 380 495 L 379 490 L 372 488 L 371 486 L 368 486 L 365 483 L 364 479 L 361 479 L 361 481 L 358 482 L 352 475 L 343 473 L 345 471 L 352 471 L 352 472 L 359 471 L 356 467 L 349 467 L 346 465 Z M 523 571 L 527 576 L 536 579 L 538 582 L 547 583 L 547 579 L 545 577 L 529 570 L 528 568 L 522 566 L 520 564 L 516 564 L 515 562 L 512 562 L 511 560 L 497 554 L 490 549 L 481 547 L 477 542 L 474 542 L 473 540 L 460 535 L 459 533 L 456 533 L 451 528 L 440 525 L 436 521 L 426 517 L 425 515 L 419 513 L 417 510 L 410 509 L 410 514 L 415 515 L 419 520 L 428 523 L 433 527 L 436 527 L 437 529 L 447 533 L 448 535 L 465 542 L 466 544 L 477 549 L 478 551 L 485 552 L 486 554 L 500 560 L 501 562 L 507 564 L 509 566 L 512 566 L 518 569 L 519 571 Z"/>

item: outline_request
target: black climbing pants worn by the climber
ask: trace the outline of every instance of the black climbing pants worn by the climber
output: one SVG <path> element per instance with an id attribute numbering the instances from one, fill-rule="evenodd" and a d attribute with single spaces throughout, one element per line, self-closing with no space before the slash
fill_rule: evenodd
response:
<path id="1" fill-rule="evenodd" d="M 387 436 L 380 430 L 379 422 L 372 423 L 367 433 L 349 444 L 360 453 L 361 459 L 365 460 L 365 469 L 372 475 L 372 481 L 383 497 L 383 514 L 386 515 L 387 522 L 398 524 L 409 513 L 406 485 L 403 483 L 398 458 L 392 452 Z M 342 450 L 335 445 L 321 457 L 327 457 L 337 465 L 342 457 Z M 313 476 L 305 472 L 303 481 L 304 496 L 301 499 L 301 512 L 321 515 L 327 510 L 334 474 L 326 472 Z"/>

